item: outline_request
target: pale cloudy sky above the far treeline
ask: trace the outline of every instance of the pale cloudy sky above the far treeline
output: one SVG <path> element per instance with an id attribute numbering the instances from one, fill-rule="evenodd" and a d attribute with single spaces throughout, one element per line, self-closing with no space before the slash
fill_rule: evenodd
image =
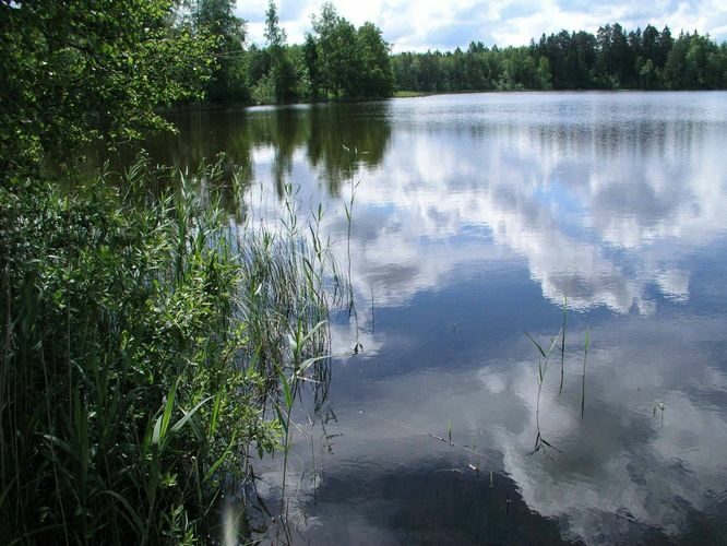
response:
<path id="1" fill-rule="evenodd" d="M 302 43 L 310 32 L 310 16 L 320 13 L 322 0 L 277 0 L 281 24 L 288 43 Z M 606 23 L 627 29 L 652 24 L 710 34 L 727 40 L 725 0 L 334 0 L 338 14 L 356 26 L 373 22 L 394 52 L 466 48 L 475 41 L 487 46 L 527 45 L 563 28 L 595 34 Z M 263 44 L 267 0 L 238 0 L 236 14 L 248 22 L 252 41 Z"/>

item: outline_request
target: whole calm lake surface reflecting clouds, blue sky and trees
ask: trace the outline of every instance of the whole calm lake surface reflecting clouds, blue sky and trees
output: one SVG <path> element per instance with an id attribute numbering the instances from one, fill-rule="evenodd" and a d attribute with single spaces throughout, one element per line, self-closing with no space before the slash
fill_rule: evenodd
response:
<path id="1" fill-rule="evenodd" d="M 327 397 L 297 414 L 296 541 L 727 541 L 727 94 L 433 96 L 174 121 L 155 157 L 225 152 L 262 219 L 293 183 L 300 222 L 322 203 L 350 266 Z M 543 443 L 525 332 L 547 348 L 565 300 Z M 271 510 L 281 463 L 257 464 Z"/>

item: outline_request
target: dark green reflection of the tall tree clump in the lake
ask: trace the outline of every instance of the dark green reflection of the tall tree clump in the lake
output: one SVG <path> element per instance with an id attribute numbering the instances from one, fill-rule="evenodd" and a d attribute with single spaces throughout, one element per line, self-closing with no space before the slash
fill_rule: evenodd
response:
<path id="1" fill-rule="evenodd" d="M 253 152 L 274 151 L 271 178 L 278 197 L 290 177 L 295 152 L 303 150 L 320 169 L 327 190 L 337 195 L 351 171 L 350 154 L 358 151 L 354 174 L 383 161 L 391 138 L 386 103 L 325 104 L 261 110 L 211 110 L 178 114 L 171 121 L 178 134 L 162 134 L 146 144 L 151 156 L 167 165 L 196 168 L 224 153 L 227 163 L 253 175 Z"/>

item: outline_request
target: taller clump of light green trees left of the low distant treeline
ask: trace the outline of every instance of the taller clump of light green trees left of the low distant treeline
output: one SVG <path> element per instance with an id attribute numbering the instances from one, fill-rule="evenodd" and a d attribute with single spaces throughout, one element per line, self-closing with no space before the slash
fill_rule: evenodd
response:
<path id="1" fill-rule="evenodd" d="M 386 98 L 393 93 L 389 45 L 366 22 L 356 28 L 327 2 L 311 16 L 303 44 L 288 45 L 277 7 L 270 0 L 265 44 L 247 40 L 234 1 L 199 0 L 180 5 L 180 24 L 215 39 L 216 69 L 205 91 L 210 102 L 284 104 L 325 98 Z"/>

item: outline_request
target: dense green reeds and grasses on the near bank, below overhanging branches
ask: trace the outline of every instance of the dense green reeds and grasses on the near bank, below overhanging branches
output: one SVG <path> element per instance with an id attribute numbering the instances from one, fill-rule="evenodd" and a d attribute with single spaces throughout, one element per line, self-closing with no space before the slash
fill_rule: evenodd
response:
<path id="1" fill-rule="evenodd" d="M 2 544 L 204 539 L 279 444 L 266 408 L 325 381 L 314 228 L 230 223 L 213 170 L 111 178 L 0 189 Z"/>

